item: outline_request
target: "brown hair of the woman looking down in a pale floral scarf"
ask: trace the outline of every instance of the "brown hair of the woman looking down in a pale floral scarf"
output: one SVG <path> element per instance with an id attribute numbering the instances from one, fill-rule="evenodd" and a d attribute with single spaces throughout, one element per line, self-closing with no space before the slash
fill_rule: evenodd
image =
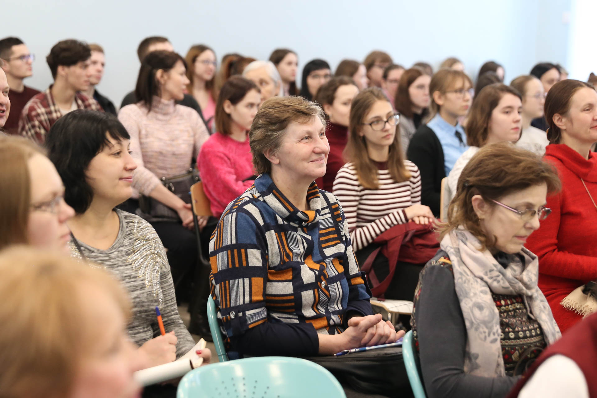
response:
<path id="1" fill-rule="evenodd" d="M 458 178 L 456 196 L 448 206 L 448 222 L 438 225 L 441 239 L 463 226 L 479 239 L 481 249 L 493 247 L 496 237 L 487 236 L 482 230 L 473 208 L 473 196 L 481 195 L 488 205 L 497 206 L 492 200 L 499 201 L 510 193 L 542 183 L 547 184 L 548 195 L 561 189 L 558 172 L 540 156 L 512 143 L 482 147 Z"/>

